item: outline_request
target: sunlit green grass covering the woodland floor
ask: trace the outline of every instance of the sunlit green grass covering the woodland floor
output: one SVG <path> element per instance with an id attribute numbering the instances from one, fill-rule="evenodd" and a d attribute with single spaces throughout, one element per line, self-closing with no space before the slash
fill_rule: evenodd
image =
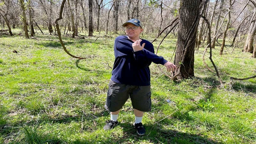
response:
<path id="1" fill-rule="evenodd" d="M 255 75 L 256 59 L 241 52 L 242 47 L 230 53 L 227 46 L 222 56 L 218 46 L 213 49 L 223 87 L 204 66 L 204 47 L 195 52 L 195 77 L 180 83 L 152 64 L 152 111 L 142 120 L 147 134 L 136 134 L 130 100 L 118 117 L 120 124 L 103 131 L 109 120 L 104 104 L 116 36 L 106 43 L 106 37 L 63 37 L 70 53 L 93 57 L 84 60 L 66 54 L 57 36 L 0 36 L 0 143 L 256 143 L 256 79 L 230 81 L 230 76 Z M 175 41 L 166 39 L 158 55 L 173 61 Z"/>

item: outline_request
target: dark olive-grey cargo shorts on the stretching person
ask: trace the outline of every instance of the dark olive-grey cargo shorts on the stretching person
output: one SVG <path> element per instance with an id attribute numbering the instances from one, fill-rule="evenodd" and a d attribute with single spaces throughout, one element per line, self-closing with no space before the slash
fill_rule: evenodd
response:
<path id="1" fill-rule="evenodd" d="M 140 111 L 151 111 L 150 85 L 137 86 L 119 84 L 112 80 L 108 84 L 108 96 L 105 108 L 110 112 L 115 112 L 124 106 L 124 103 L 131 98 L 132 107 Z"/>

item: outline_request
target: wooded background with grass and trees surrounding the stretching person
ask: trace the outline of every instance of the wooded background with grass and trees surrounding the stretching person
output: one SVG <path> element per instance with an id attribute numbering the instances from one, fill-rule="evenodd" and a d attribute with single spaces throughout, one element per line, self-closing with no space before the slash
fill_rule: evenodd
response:
<path id="1" fill-rule="evenodd" d="M 253 0 L 0 0 L 0 143 L 256 143 L 255 7 Z M 130 101 L 115 131 L 102 131 L 114 39 L 131 18 L 178 66 L 173 74 L 150 66 L 145 136 L 134 133 Z"/>

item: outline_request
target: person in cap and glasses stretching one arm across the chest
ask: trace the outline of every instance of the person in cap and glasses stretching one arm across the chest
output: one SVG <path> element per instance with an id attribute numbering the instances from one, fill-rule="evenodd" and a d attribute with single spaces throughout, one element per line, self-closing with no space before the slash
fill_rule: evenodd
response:
<path id="1" fill-rule="evenodd" d="M 162 64 L 167 71 L 174 71 L 177 67 L 157 56 L 153 44 L 140 38 L 143 31 L 140 20 L 128 20 L 123 27 L 126 36 L 116 37 L 114 44 L 115 62 L 105 104 L 110 111 L 110 121 L 104 129 L 111 130 L 118 124 L 118 114 L 130 96 L 135 115 L 133 125 L 137 133 L 143 135 L 146 131 L 141 123 L 142 116 L 151 110 L 149 65 L 151 62 Z"/>

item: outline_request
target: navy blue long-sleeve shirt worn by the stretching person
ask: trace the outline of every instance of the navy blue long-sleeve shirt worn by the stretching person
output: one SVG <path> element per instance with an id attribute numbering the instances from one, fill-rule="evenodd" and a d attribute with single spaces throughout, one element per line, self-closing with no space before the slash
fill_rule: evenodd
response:
<path id="1" fill-rule="evenodd" d="M 147 86 L 150 85 L 151 62 L 164 65 L 167 60 L 157 56 L 154 46 L 147 40 L 141 39 L 140 44 L 145 43 L 144 49 L 134 52 L 133 41 L 127 36 L 118 36 L 115 39 L 115 62 L 111 80 L 120 84 Z"/>

